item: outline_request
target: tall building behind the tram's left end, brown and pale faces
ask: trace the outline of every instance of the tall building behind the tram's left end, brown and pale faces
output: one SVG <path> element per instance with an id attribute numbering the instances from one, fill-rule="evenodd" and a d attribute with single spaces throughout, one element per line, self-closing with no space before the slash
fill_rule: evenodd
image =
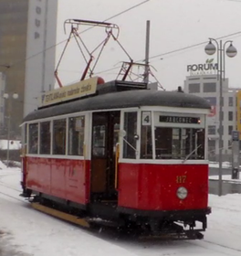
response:
<path id="1" fill-rule="evenodd" d="M 57 12 L 57 0 L 0 0 L 0 72 L 9 94 L 4 109 L 16 135 L 39 94 L 54 87 Z"/>

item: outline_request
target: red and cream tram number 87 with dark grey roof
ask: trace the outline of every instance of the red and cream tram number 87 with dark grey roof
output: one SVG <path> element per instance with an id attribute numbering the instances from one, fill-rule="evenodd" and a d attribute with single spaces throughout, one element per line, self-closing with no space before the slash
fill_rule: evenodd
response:
<path id="1" fill-rule="evenodd" d="M 49 91 L 26 116 L 22 196 L 87 222 L 202 238 L 209 104 L 139 82 L 97 83 Z"/>

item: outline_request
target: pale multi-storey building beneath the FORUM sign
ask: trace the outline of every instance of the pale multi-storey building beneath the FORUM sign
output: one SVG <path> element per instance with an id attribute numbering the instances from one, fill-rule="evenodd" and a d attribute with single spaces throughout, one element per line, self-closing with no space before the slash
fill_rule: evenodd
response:
<path id="1" fill-rule="evenodd" d="M 228 79 L 223 81 L 223 112 L 219 112 L 220 83 L 217 75 L 193 75 L 186 77 L 184 81 L 184 92 L 203 97 L 210 102 L 212 112 L 207 121 L 208 125 L 208 152 L 210 159 L 218 160 L 219 154 L 219 132 L 223 133 L 221 144 L 224 160 L 230 160 L 232 154 L 232 131 L 237 129 L 237 105 L 236 97 L 238 89 L 228 87 Z M 241 94 L 240 94 L 241 97 Z M 219 116 L 221 115 L 223 127 L 219 131 Z M 240 125 L 241 126 L 241 125 Z M 241 130 L 241 127 L 240 127 Z"/>

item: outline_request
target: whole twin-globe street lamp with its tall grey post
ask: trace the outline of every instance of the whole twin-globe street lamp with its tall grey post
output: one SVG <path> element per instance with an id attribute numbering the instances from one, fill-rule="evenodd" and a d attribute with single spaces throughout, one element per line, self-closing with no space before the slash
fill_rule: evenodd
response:
<path id="1" fill-rule="evenodd" d="M 216 44 L 213 44 L 213 41 Z M 225 46 L 227 43 L 230 43 L 229 47 L 226 48 Z M 227 57 L 233 58 L 236 56 L 236 48 L 233 46 L 232 41 L 227 40 L 223 44 L 222 40 L 217 42 L 214 38 L 209 38 L 209 43 L 205 47 L 205 53 L 208 55 L 213 55 L 215 54 L 215 51 L 217 49 L 217 80 L 219 80 L 219 172 L 218 172 L 218 196 L 222 196 L 222 165 L 223 165 L 223 119 L 222 119 L 222 112 L 223 112 L 223 106 L 224 106 L 224 101 L 223 101 L 223 80 L 225 80 L 225 54 Z"/>

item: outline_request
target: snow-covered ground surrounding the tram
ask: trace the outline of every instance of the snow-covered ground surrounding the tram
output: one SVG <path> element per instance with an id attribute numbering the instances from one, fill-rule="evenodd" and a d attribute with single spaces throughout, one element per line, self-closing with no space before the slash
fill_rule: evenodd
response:
<path id="1" fill-rule="evenodd" d="M 0 169 L 1 256 L 188 256 L 241 255 L 241 195 L 210 195 L 213 208 L 204 240 L 160 241 L 118 238 L 81 229 L 30 208 L 18 197 L 18 168 Z"/>

